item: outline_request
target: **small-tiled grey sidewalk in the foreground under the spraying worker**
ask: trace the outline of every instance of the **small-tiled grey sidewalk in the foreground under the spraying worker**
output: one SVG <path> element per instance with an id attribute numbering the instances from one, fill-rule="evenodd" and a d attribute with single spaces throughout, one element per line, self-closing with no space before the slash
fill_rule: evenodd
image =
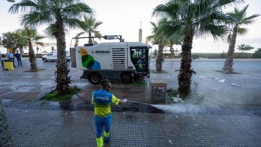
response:
<path id="1" fill-rule="evenodd" d="M 15 146 L 96 146 L 92 111 L 5 111 Z M 105 146 L 260 146 L 260 121 L 260 116 L 114 112 Z"/>

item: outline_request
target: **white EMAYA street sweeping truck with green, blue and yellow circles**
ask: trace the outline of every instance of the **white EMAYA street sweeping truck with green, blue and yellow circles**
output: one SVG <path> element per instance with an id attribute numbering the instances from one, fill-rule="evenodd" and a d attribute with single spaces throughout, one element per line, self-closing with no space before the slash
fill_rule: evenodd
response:
<path id="1" fill-rule="evenodd" d="M 90 37 L 73 39 L 78 42 L 78 39 L 82 38 Z M 99 84 L 101 79 L 121 80 L 126 84 L 132 83 L 133 80 L 143 83 L 144 78 L 149 78 L 151 45 L 124 42 L 120 35 L 102 38 L 119 39 L 120 42 L 75 45 L 76 48 L 70 48 L 72 67 L 83 70 L 81 78 L 88 79 L 93 84 Z"/>

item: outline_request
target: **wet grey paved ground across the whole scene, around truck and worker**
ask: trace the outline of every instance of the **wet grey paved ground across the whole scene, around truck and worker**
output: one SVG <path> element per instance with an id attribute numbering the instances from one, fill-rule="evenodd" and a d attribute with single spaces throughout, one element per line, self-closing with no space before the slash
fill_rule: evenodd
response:
<path id="1" fill-rule="evenodd" d="M 36 73 L 24 72 L 29 61 L 22 62 L 23 67 L 0 71 L 0 97 L 15 146 L 95 146 L 93 107 L 88 102 L 76 95 L 69 101 L 40 100 L 56 85 L 56 62 L 37 60 L 39 69 L 45 70 Z M 197 107 L 203 111 L 173 114 L 142 104 L 112 106 L 113 139 L 106 146 L 260 146 L 260 63 L 235 61 L 235 72 L 240 74 L 226 75 L 217 72 L 222 61 L 193 61 L 197 74 L 192 76 L 192 90 L 199 83 L 196 93 L 203 101 Z M 178 72 L 174 71 L 179 66 L 179 61 L 165 62 L 163 70 L 168 73 L 151 74 L 151 78 L 164 79 L 168 88 L 176 89 Z M 82 89 L 77 94 L 90 102 L 91 92 L 100 86 L 80 79 L 82 71 L 70 70 L 72 84 Z M 113 81 L 111 92 L 122 99 L 148 102 L 148 86 Z M 136 112 L 128 112 L 134 108 Z"/>

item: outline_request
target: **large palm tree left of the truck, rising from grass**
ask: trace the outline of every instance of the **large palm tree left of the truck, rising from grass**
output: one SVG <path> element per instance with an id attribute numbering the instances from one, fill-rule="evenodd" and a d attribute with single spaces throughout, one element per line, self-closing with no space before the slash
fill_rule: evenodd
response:
<path id="1" fill-rule="evenodd" d="M 22 25 L 41 26 L 48 25 L 45 34 L 57 42 L 57 70 L 56 90 L 58 94 L 68 94 L 70 77 L 66 61 L 65 34 L 68 29 L 79 26 L 85 27 L 81 21 L 83 15 L 92 15 L 93 10 L 80 0 L 22 0 L 13 4 L 9 12 L 16 14 L 21 8 L 20 22 Z"/>

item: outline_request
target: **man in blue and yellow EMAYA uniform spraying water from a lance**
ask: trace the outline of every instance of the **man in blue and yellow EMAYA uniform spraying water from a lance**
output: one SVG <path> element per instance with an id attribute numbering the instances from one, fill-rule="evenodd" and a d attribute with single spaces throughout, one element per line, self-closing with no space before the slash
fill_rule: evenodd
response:
<path id="1" fill-rule="evenodd" d="M 94 123 L 96 128 L 97 146 L 103 146 L 102 132 L 104 127 L 104 142 L 110 139 L 110 128 L 112 122 L 111 102 L 115 105 L 124 104 L 127 99 L 118 99 L 113 94 L 109 93 L 111 82 L 107 79 L 101 80 L 101 89 L 94 91 L 92 96 L 92 104 L 94 110 Z"/>

